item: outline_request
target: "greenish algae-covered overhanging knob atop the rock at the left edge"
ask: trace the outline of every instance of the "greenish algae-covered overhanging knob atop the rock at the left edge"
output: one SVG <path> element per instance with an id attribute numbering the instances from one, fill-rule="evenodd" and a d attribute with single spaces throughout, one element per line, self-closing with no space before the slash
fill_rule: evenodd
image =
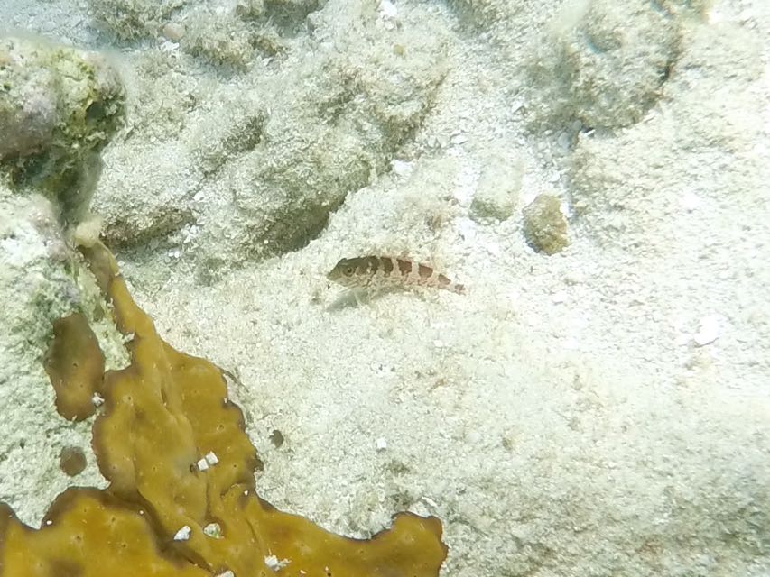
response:
<path id="1" fill-rule="evenodd" d="M 98 153 L 123 117 L 115 69 L 97 53 L 5 38 L 0 86 L 0 174 L 78 220 L 101 169 Z"/>

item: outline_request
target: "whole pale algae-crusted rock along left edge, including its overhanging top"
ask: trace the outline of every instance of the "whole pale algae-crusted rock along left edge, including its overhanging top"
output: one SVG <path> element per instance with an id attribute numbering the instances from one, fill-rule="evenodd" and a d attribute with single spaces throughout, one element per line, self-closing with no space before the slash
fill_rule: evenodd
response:
<path id="1" fill-rule="evenodd" d="M 0 40 L 0 87 L 0 406 L 10 432 L 0 439 L 0 501 L 36 520 L 40 499 L 68 485 L 61 449 L 89 445 L 88 427 L 51 415 L 42 359 L 53 323 L 84 315 L 97 326 L 107 365 L 125 357 L 120 336 L 99 320 L 107 307 L 68 240 L 69 225 L 87 214 L 99 151 L 120 124 L 123 87 L 95 53 L 17 38 Z M 93 464 L 79 482 L 104 484 Z"/>

